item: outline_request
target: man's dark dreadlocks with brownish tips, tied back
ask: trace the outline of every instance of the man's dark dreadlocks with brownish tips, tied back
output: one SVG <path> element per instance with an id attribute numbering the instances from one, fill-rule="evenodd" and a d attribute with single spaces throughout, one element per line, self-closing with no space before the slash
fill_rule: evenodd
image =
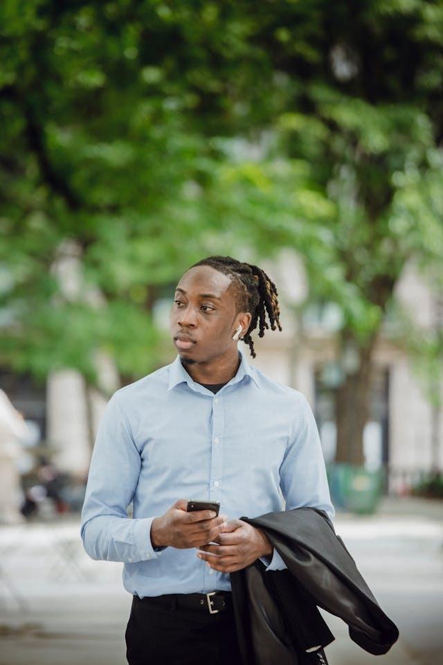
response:
<path id="1" fill-rule="evenodd" d="M 266 312 L 271 330 L 275 330 L 275 323 L 278 330 L 282 330 L 275 284 L 257 265 L 242 263 L 230 256 L 208 256 L 191 267 L 197 265 L 208 265 L 233 279 L 232 286 L 235 290 L 237 312 L 250 312 L 252 316 L 249 328 L 242 339 L 245 344 L 248 344 L 251 355 L 255 358 L 251 332 L 257 327 L 257 321 L 259 337 L 263 337 L 265 328 L 269 330 L 269 325 L 266 323 Z"/>

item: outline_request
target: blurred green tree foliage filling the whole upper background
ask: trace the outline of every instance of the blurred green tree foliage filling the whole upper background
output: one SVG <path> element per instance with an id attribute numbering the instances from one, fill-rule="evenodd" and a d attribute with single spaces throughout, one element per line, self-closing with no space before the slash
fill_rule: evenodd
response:
<path id="1" fill-rule="evenodd" d="M 160 287 L 281 247 L 364 345 L 406 261 L 443 258 L 442 24 L 440 0 L 3 2 L 1 362 L 146 373 Z"/>

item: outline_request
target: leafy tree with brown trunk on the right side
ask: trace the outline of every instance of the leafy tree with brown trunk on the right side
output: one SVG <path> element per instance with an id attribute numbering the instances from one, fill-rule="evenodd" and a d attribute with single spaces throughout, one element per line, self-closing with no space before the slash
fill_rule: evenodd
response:
<path id="1" fill-rule="evenodd" d="M 341 308 L 336 461 L 360 464 L 372 353 L 395 284 L 412 258 L 441 274 L 443 3 L 279 10 L 261 3 L 257 17 L 284 98 L 276 151 L 308 161 L 334 204 L 319 229 L 329 251 L 302 251 L 311 298 Z"/>

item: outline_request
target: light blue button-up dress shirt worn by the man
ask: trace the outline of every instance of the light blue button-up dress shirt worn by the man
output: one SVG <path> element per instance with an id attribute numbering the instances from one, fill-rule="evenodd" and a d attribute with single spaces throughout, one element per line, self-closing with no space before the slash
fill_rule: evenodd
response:
<path id="1" fill-rule="evenodd" d="M 197 549 L 154 551 L 150 529 L 177 499 L 220 502 L 228 520 L 299 506 L 335 511 L 307 399 L 248 364 L 217 393 L 174 362 L 116 391 L 100 420 L 82 509 L 84 549 L 122 561 L 130 594 L 230 591 Z M 283 500 L 284 497 L 284 500 Z M 127 507 L 133 504 L 132 517 Z M 266 570 L 286 566 L 277 551 Z"/>

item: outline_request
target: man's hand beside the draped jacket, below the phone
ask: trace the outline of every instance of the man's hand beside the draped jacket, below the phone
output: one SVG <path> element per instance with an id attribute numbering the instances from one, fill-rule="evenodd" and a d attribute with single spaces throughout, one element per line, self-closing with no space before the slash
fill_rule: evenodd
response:
<path id="1" fill-rule="evenodd" d="M 197 556 L 221 573 L 233 573 L 246 568 L 260 556 L 271 555 L 273 546 L 261 529 L 242 520 L 230 520 L 222 527 L 217 538 L 218 545 L 203 545 L 204 553 Z"/>

